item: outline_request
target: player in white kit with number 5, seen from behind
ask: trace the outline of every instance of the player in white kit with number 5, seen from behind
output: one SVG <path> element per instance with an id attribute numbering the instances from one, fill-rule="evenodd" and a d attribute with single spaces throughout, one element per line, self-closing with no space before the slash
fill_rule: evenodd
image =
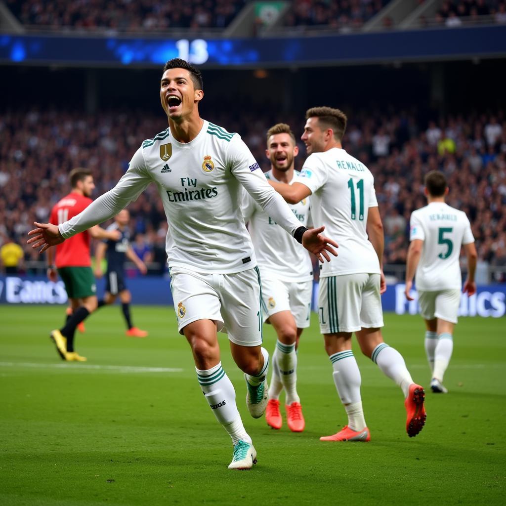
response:
<path id="1" fill-rule="evenodd" d="M 415 284 L 418 304 L 425 320 L 425 351 L 431 368 L 431 389 L 446 394 L 443 376 L 453 351 L 453 328 L 457 323 L 462 275 L 460 247 L 468 259 L 468 276 L 463 292 L 471 297 L 476 292 L 476 247 L 466 213 L 445 203 L 448 194 L 446 178 L 431 171 L 425 177 L 428 205 L 413 211 L 410 220 L 411 241 L 406 260 L 406 298 L 413 300 Z"/>

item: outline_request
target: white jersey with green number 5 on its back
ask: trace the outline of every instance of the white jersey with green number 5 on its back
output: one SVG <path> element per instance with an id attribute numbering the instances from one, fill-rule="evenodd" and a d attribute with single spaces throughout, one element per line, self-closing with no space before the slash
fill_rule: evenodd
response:
<path id="1" fill-rule="evenodd" d="M 416 268 L 418 290 L 460 289 L 462 244 L 474 242 L 466 213 L 444 202 L 431 202 L 411 214 L 409 240 L 424 241 Z"/>

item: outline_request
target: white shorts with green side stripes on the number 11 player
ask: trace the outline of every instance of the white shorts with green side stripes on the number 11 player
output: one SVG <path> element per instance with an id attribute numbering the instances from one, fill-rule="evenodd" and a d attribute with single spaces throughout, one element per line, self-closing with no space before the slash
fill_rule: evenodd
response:
<path id="1" fill-rule="evenodd" d="M 318 318 L 322 334 L 383 327 L 379 274 L 320 278 Z"/>

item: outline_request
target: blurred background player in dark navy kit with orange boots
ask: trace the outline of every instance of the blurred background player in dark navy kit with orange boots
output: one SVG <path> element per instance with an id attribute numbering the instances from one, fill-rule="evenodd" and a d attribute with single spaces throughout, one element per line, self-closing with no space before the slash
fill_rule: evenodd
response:
<path id="1" fill-rule="evenodd" d="M 137 266 L 142 274 L 148 271 L 146 264 L 137 256 L 134 248 L 130 244 L 130 232 L 128 223 L 130 221 L 130 213 L 127 209 L 123 209 L 114 217 L 114 223 L 107 227 L 107 231 L 116 230 L 120 237 L 118 240 L 108 239 L 99 242 L 95 250 L 95 276 L 101 278 L 103 276 L 101 264 L 104 257 L 107 258 L 106 287 L 105 296 L 98 301 L 98 307 L 101 308 L 106 304 L 113 304 L 119 295 L 121 301 L 121 310 L 126 322 L 126 335 L 133 338 L 145 338 L 148 333 L 146 330 L 134 327 L 132 316 L 130 314 L 130 302 L 132 294 L 126 287 L 124 280 L 124 261 L 125 257 L 129 258 Z"/>

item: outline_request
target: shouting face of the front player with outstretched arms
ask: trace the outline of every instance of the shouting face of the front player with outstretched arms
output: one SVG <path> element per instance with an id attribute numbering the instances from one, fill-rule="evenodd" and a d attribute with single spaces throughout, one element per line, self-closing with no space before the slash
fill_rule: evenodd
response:
<path id="1" fill-rule="evenodd" d="M 168 118 L 181 121 L 192 114 L 204 92 L 196 90 L 191 74 L 183 68 L 165 70 L 160 81 L 160 101 Z"/>

